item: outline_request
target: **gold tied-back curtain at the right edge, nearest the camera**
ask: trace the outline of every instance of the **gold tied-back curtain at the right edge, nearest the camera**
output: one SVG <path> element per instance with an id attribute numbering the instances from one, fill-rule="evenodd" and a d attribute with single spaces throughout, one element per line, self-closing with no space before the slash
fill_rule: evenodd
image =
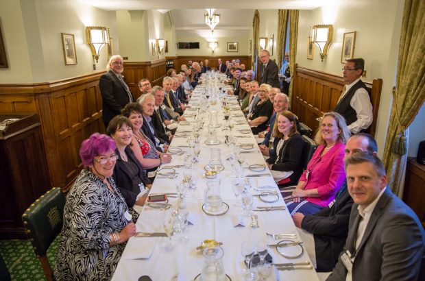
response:
<path id="1" fill-rule="evenodd" d="M 398 54 L 396 90 L 389 117 L 384 163 L 387 182 L 400 196 L 406 166 L 406 128 L 425 99 L 425 1 L 405 0 Z M 404 156 L 404 157 L 403 157 Z"/>

